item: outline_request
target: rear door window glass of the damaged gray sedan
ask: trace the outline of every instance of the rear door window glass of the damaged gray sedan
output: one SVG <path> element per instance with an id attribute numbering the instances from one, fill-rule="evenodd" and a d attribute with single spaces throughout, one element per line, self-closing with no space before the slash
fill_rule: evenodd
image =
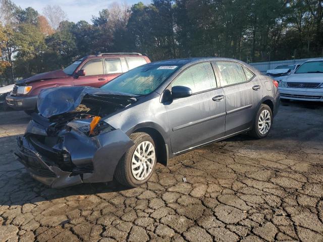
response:
<path id="1" fill-rule="evenodd" d="M 232 62 L 217 62 L 216 64 L 221 72 L 223 87 L 247 81 L 241 65 Z"/>

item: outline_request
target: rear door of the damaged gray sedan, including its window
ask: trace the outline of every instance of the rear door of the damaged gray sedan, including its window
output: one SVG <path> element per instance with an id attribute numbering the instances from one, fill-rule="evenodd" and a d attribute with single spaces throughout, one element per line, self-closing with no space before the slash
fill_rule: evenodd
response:
<path id="1" fill-rule="evenodd" d="M 262 90 L 255 75 L 235 62 L 216 62 L 226 96 L 226 136 L 251 127 Z"/>

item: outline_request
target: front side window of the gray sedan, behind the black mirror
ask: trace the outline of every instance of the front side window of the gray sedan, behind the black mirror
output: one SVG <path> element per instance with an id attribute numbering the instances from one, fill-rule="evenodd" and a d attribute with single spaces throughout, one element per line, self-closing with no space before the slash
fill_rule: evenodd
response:
<path id="1" fill-rule="evenodd" d="M 193 93 L 217 87 L 216 76 L 210 63 L 201 63 L 186 69 L 172 83 L 172 86 L 185 86 Z"/>

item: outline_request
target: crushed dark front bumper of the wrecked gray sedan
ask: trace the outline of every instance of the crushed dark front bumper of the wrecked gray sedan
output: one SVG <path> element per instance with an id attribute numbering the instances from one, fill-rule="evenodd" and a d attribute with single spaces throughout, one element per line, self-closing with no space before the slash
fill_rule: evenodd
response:
<path id="1" fill-rule="evenodd" d="M 62 139 L 64 148 L 57 150 L 38 142 L 35 133 L 44 131 L 31 121 L 25 136 L 17 139 L 16 155 L 33 178 L 51 188 L 111 181 L 120 158 L 133 145 L 121 130 L 95 137 L 72 131 Z"/>

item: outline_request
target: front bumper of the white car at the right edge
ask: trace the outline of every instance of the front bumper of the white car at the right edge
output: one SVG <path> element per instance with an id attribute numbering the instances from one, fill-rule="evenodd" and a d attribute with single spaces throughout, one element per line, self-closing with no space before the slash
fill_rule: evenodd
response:
<path id="1" fill-rule="evenodd" d="M 279 92 L 281 93 L 281 98 L 285 99 L 323 102 L 322 88 L 279 87 Z"/>

